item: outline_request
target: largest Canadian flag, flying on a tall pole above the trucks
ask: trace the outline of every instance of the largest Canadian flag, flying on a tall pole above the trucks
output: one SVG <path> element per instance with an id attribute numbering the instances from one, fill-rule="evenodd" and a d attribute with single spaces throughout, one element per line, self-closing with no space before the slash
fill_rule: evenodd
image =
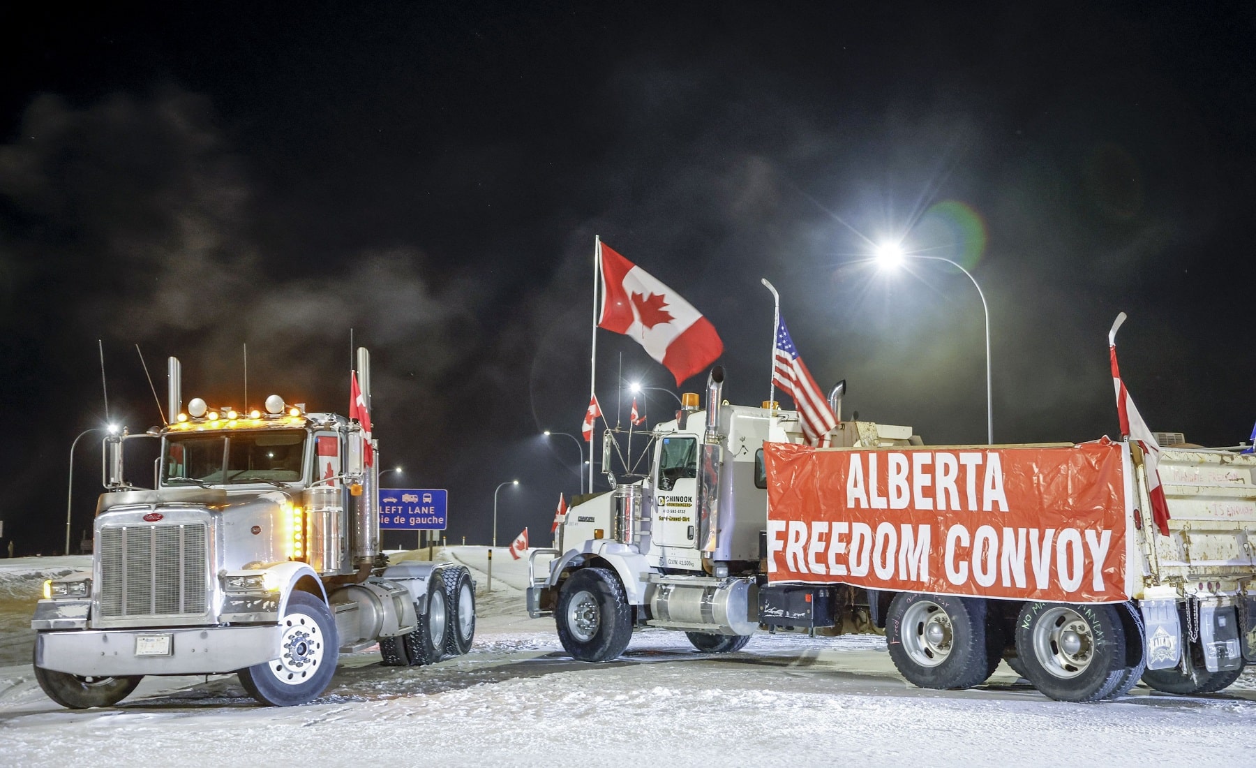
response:
<path id="1" fill-rule="evenodd" d="M 599 328 L 637 339 L 672 372 L 677 386 L 720 357 L 723 352 L 720 334 L 692 304 L 609 245 L 600 243 L 600 246 Z"/>

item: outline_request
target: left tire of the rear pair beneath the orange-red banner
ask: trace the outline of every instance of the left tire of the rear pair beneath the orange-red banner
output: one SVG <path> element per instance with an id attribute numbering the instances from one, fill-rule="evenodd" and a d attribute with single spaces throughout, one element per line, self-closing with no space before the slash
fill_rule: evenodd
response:
<path id="1" fill-rule="evenodd" d="M 889 603 L 885 642 L 898 672 L 919 688 L 972 688 L 991 672 L 980 598 L 899 592 Z"/>

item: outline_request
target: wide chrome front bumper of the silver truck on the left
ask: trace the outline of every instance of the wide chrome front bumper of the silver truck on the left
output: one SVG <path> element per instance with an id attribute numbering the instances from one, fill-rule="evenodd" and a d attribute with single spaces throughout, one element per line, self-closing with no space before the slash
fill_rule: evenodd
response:
<path id="1" fill-rule="evenodd" d="M 170 635 L 170 654 L 137 656 L 141 635 Z M 279 641 L 279 625 L 40 632 L 35 666 L 84 676 L 226 674 L 270 661 Z"/>

